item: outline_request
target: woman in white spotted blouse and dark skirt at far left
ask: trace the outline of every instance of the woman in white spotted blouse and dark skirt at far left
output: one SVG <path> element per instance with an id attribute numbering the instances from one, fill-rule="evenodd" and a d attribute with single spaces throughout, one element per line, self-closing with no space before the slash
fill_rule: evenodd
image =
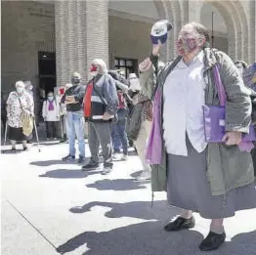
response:
<path id="1" fill-rule="evenodd" d="M 12 151 L 16 151 L 16 143 L 22 142 L 23 150 L 27 149 L 26 136 L 23 134 L 23 123 L 21 113 L 26 112 L 30 117 L 34 116 L 34 103 L 32 97 L 25 92 L 24 83 L 16 82 L 16 91 L 10 93 L 7 100 L 7 119 L 9 138 L 12 144 Z M 30 131 L 32 131 L 30 129 Z"/>

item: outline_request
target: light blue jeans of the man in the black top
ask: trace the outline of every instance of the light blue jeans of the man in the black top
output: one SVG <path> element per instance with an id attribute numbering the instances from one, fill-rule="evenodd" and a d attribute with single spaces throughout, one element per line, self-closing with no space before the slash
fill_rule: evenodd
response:
<path id="1" fill-rule="evenodd" d="M 67 111 L 66 113 L 66 135 L 69 144 L 69 154 L 75 156 L 75 136 L 78 141 L 79 156 L 85 156 L 84 142 L 84 117 L 82 112 Z"/>

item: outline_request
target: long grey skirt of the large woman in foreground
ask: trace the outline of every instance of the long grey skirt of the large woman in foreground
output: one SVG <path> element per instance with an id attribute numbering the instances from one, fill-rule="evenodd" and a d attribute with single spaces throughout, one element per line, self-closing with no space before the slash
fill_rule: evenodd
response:
<path id="1" fill-rule="evenodd" d="M 206 151 L 198 153 L 187 139 L 188 156 L 168 154 L 168 202 L 198 212 L 206 219 L 232 217 L 235 211 L 256 208 L 255 184 L 212 195 L 206 176 Z"/>

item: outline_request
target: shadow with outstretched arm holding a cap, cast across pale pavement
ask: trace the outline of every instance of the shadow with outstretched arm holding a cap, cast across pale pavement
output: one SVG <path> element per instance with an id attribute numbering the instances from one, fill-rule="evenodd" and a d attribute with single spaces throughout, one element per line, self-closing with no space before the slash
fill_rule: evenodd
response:
<path id="1" fill-rule="evenodd" d="M 105 214 L 107 218 L 130 217 L 143 220 L 168 220 L 180 214 L 180 210 L 168 205 L 166 200 L 154 201 L 151 207 L 150 201 L 133 201 L 128 203 L 115 202 L 90 202 L 83 206 L 70 208 L 72 213 L 90 212 L 95 206 L 109 207 L 110 210 Z"/>

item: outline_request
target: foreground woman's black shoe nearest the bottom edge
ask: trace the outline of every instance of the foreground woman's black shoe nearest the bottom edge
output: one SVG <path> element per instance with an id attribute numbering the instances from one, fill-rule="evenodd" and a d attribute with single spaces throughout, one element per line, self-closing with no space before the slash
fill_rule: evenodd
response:
<path id="1" fill-rule="evenodd" d="M 210 232 L 200 243 L 199 249 L 201 251 L 217 250 L 225 241 L 226 234 L 216 234 Z"/>

